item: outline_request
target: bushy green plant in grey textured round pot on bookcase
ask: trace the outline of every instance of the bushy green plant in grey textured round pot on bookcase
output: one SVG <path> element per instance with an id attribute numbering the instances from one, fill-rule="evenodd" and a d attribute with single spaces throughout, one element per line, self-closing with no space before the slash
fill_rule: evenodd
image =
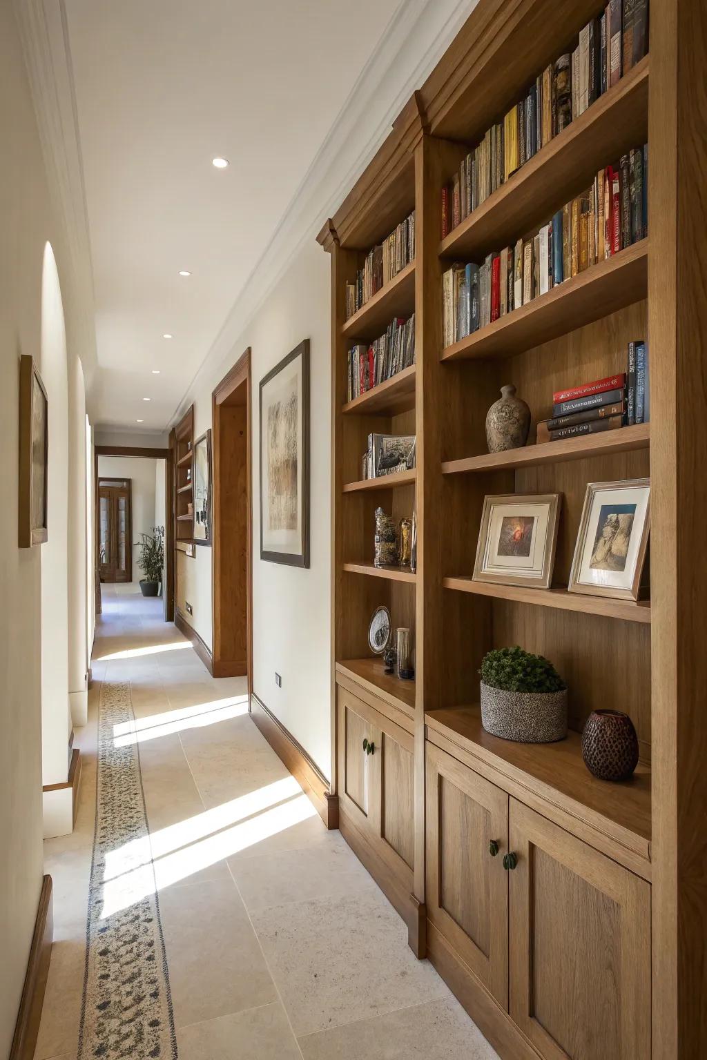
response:
<path id="1" fill-rule="evenodd" d="M 498 648 L 481 660 L 481 723 L 518 743 L 552 743 L 567 736 L 567 686 L 542 655 Z"/>

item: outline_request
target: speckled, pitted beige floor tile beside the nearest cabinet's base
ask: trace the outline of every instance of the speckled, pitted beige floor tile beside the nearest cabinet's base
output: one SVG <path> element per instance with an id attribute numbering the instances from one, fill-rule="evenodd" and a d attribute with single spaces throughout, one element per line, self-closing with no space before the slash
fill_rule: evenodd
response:
<path id="1" fill-rule="evenodd" d="M 377 887 L 251 918 L 298 1037 L 449 996 Z"/>

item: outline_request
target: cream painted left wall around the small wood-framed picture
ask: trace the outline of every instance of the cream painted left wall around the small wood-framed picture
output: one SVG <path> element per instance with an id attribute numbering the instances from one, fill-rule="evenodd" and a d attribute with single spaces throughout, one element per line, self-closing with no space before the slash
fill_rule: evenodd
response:
<path id="1" fill-rule="evenodd" d="M 40 554 L 17 545 L 19 356 L 40 358 L 41 273 L 50 242 L 67 346 L 82 358 L 95 336 L 79 302 L 22 61 L 13 5 L 0 3 L 0 1056 L 10 1054 L 42 878 Z M 50 407 L 50 422 L 58 408 Z M 50 461 L 52 456 L 50 454 Z M 50 473 L 51 474 L 51 473 Z M 66 480 L 66 467 L 64 469 Z M 64 556 L 66 564 L 66 553 Z M 57 606 L 66 607 L 65 600 Z M 68 690 L 65 692 L 68 694 Z M 66 714 L 65 714 L 66 718 Z M 67 778 L 66 718 L 61 739 Z"/>

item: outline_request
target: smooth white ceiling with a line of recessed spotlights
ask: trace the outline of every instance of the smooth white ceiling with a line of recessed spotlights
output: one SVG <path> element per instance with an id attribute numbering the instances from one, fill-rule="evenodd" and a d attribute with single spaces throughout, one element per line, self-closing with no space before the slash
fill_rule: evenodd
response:
<path id="1" fill-rule="evenodd" d="M 170 422 L 399 5 L 66 0 L 94 422 Z"/>

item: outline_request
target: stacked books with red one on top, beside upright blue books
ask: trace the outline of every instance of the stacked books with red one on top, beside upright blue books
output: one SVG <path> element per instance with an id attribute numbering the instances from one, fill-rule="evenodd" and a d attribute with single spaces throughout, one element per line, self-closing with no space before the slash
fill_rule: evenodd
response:
<path id="1" fill-rule="evenodd" d="M 556 442 L 579 435 L 648 423 L 651 419 L 648 344 L 629 342 L 625 372 L 594 379 L 552 394 L 552 417 L 537 424 L 537 441 Z"/>

